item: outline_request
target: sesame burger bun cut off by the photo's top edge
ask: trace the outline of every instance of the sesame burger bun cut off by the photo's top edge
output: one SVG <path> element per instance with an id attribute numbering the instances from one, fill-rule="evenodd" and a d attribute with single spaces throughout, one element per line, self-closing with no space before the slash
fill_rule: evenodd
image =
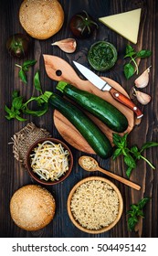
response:
<path id="1" fill-rule="evenodd" d="M 64 11 L 58 0 L 24 0 L 19 21 L 26 33 L 37 39 L 55 35 L 64 22 Z"/>

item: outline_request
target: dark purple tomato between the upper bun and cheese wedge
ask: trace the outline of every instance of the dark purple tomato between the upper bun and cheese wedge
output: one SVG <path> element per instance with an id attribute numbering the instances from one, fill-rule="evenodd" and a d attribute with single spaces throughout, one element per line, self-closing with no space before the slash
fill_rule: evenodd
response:
<path id="1" fill-rule="evenodd" d="M 71 17 L 69 27 L 75 37 L 89 38 L 98 28 L 98 25 L 86 11 L 82 11 Z"/>

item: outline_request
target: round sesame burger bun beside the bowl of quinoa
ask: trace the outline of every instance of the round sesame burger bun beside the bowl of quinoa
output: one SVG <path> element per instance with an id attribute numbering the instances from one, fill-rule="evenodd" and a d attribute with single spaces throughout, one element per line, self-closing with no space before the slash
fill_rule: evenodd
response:
<path id="1" fill-rule="evenodd" d="M 27 185 L 16 190 L 10 200 L 10 213 L 21 229 L 42 229 L 53 219 L 56 209 L 54 197 L 46 188 Z"/>

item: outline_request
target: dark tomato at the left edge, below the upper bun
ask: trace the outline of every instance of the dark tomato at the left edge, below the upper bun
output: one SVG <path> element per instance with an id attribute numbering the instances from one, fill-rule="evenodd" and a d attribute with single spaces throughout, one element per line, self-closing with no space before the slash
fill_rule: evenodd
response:
<path id="1" fill-rule="evenodd" d="M 28 53 L 30 39 L 24 34 L 17 33 L 6 41 L 6 48 L 11 56 L 24 58 Z"/>

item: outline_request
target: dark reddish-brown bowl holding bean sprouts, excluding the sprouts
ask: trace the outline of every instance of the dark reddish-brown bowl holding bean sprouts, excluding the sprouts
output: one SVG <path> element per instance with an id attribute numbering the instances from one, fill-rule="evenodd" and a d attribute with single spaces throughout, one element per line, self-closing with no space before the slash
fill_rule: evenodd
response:
<path id="1" fill-rule="evenodd" d="M 68 150 L 68 171 L 65 172 L 65 174 L 63 176 L 60 176 L 58 178 L 58 180 L 45 180 L 45 179 L 41 179 L 40 176 L 38 176 L 35 172 L 33 172 L 32 167 L 31 167 L 31 162 L 30 162 L 30 155 L 33 153 L 34 148 L 37 147 L 38 144 L 42 144 L 45 141 L 50 141 L 54 144 L 61 144 L 65 150 Z M 26 155 L 26 168 L 27 171 L 29 173 L 29 175 L 31 177 L 33 177 L 38 183 L 42 184 L 42 185 L 56 185 L 62 181 L 64 181 L 70 174 L 71 170 L 72 170 L 72 165 L 73 165 L 73 155 L 70 151 L 70 149 L 68 148 L 67 144 L 64 144 L 62 141 L 56 139 L 56 138 L 43 138 L 43 139 L 39 139 L 37 140 L 37 142 L 35 142 L 34 144 L 32 144 L 28 151 L 27 151 L 27 155 Z"/>

